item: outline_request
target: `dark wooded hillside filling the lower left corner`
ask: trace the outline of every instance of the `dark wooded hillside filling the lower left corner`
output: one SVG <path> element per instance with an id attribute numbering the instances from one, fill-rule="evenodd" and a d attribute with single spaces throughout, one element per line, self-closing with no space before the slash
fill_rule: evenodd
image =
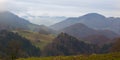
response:
<path id="1" fill-rule="evenodd" d="M 40 56 L 40 50 L 17 33 L 2 30 L 0 31 L 0 56 L 2 58 Z"/>

